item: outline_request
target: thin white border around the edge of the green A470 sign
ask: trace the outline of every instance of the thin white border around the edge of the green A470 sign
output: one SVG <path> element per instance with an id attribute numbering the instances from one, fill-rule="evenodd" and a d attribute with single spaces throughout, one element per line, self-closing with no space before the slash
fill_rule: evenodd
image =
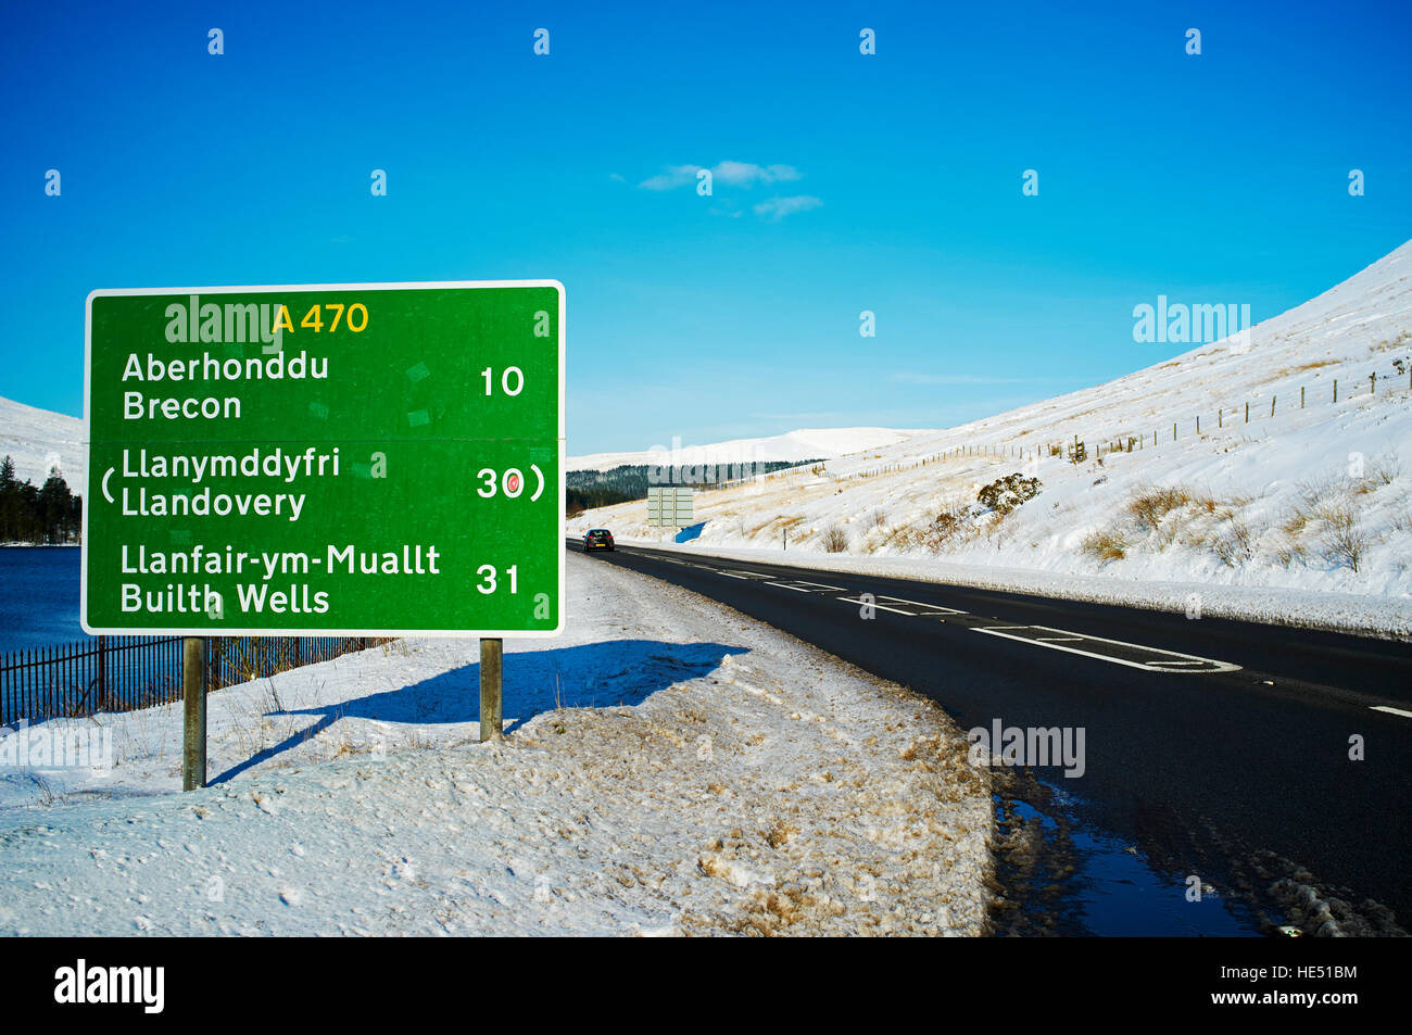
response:
<path id="1" fill-rule="evenodd" d="M 397 281 L 377 284 L 249 284 L 195 288 L 96 288 L 83 302 L 83 453 L 89 484 L 83 486 L 83 544 L 79 548 L 79 626 L 89 635 L 181 635 L 181 637 L 441 637 L 441 638 L 496 638 L 496 640 L 552 640 L 563 633 L 568 599 L 565 596 L 565 555 L 568 552 L 562 534 L 556 535 L 559 549 L 559 623 L 552 630 L 462 630 L 462 628 L 192 628 L 188 626 L 161 626 L 141 628 L 113 628 L 89 626 L 88 620 L 88 562 L 89 562 L 89 507 L 93 503 L 93 466 L 89 455 L 92 446 L 92 390 L 93 390 L 93 299 L 133 298 L 140 295 L 233 295 L 277 291 L 428 291 L 435 288 L 554 288 L 559 292 L 559 524 L 563 524 L 566 503 L 565 489 L 565 343 L 568 342 L 568 308 L 565 287 L 556 280 L 521 281 Z"/>

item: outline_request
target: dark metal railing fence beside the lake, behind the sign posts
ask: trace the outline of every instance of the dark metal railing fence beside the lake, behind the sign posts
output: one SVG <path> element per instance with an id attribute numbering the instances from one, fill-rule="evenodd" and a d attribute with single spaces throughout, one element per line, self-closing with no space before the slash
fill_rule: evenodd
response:
<path id="1" fill-rule="evenodd" d="M 206 689 L 263 679 L 387 637 L 206 637 Z M 0 654 L 0 726 L 130 712 L 182 696 L 182 637 L 93 637 Z"/>

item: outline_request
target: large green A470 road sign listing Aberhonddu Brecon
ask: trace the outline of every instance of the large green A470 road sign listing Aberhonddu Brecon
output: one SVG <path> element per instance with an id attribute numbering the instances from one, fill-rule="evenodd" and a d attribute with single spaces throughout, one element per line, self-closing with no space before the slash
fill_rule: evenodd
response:
<path id="1" fill-rule="evenodd" d="M 95 291 L 83 628 L 555 635 L 558 281 Z"/>

